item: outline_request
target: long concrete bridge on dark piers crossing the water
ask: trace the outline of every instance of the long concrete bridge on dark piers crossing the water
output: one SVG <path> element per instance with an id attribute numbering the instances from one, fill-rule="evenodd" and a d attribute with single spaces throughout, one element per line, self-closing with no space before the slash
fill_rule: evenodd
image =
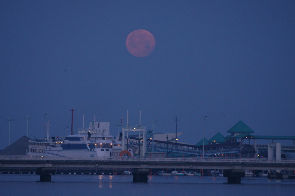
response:
<path id="1" fill-rule="evenodd" d="M 0 169 L 4 167 L 36 167 L 40 179 L 55 172 L 54 168 L 133 168 L 133 175 L 147 179 L 149 169 L 224 169 L 228 182 L 239 183 L 245 170 L 295 170 L 294 159 L 253 158 L 186 158 L 186 157 L 28 157 L 0 156 Z M 133 172 L 133 171 L 137 171 Z M 140 177 L 139 177 L 140 178 Z M 50 181 L 50 180 L 49 180 Z M 138 181 L 141 181 L 139 179 Z M 145 181 L 145 180 L 144 180 Z"/>

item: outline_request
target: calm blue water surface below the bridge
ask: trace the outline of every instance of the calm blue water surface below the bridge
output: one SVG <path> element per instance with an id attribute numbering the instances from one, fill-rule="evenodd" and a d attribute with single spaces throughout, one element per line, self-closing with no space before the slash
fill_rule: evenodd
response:
<path id="1" fill-rule="evenodd" d="M 294 179 L 245 177 L 240 185 L 226 177 L 149 176 L 148 183 L 133 183 L 132 175 L 55 175 L 38 182 L 35 174 L 0 174 L 1 195 L 295 195 Z"/>

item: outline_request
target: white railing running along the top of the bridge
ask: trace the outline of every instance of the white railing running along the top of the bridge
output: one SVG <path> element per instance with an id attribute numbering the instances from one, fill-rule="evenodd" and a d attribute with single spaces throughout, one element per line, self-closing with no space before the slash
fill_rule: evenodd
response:
<path id="1" fill-rule="evenodd" d="M 108 162 L 193 162 L 193 163 L 255 163 L 295 164 L 295 159 L 200 158 L 200 157 L 31 157 L 1 155 L 2 161 L 108 161 Z"/>

